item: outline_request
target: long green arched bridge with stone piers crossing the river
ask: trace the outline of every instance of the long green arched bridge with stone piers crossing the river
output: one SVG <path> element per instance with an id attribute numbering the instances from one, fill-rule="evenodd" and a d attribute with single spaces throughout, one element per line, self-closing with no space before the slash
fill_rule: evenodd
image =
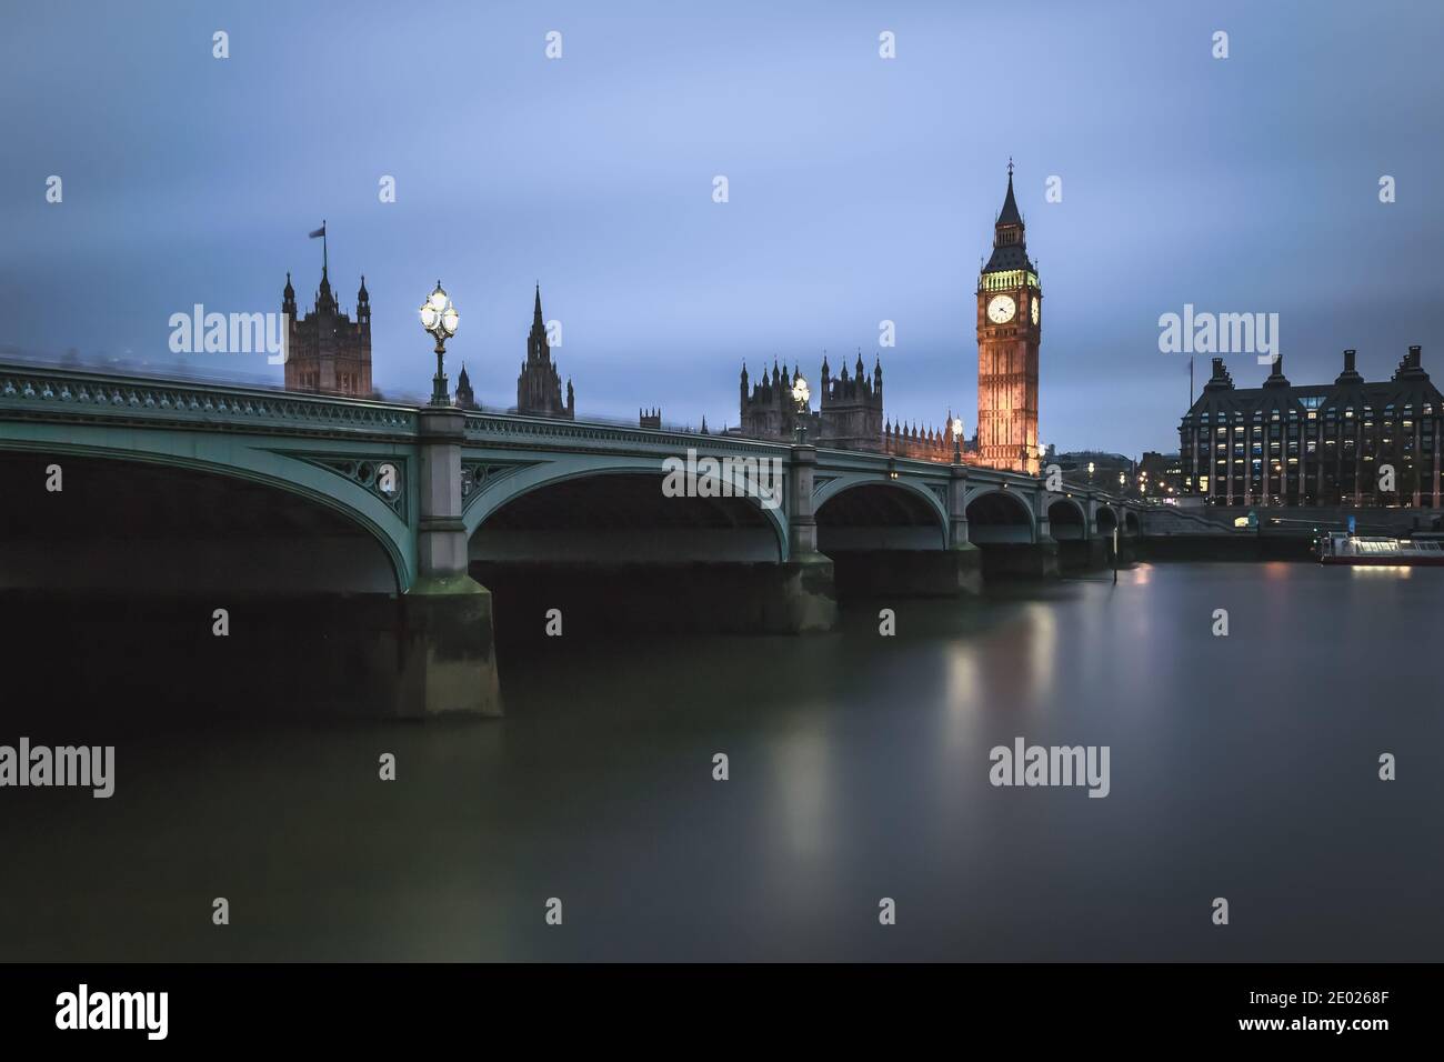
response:
<path id="1" fill-rule="evenodd" d="M 329 529 L 352 551 L 364 540 L 384 562 L 341 565 L 338 578 L 400 603 L 397 705 L 422 715 L 500 712 L 492 595 L 474 574 L 490 582 L 488 574 L 557 565 L 721 565 L 747 574 L 742 629 L 801 633 L 833 626 L 843 577 L 874 591 L 967 594 L 985 572 L 1102 564 L 1115 529 L 1139 533 L 1129 503 L 966 464 L 27 364 L 0 363 L 0 458 L 12 480 L 22 468 L 64 475 L 69 465 L 62 488 L 72 491 L 78 462 L 81 497 L 100 511 L 75 519 L 104 522 L 104 510 L 130 504 L 162 511 L 168 526 L 199 526 L 186 522 L 243 491 L 256 523 L 289 500 L 289 524 Z M 768 503 L 705 487 L 669 496 L 669 459 L 771 467 L 780 496 Z M 118 467 L 149 478 L 124 480 Z M 130 501 L 107 485 L 121 481 Z M 140 501 L 136 483 L 150 484 Z M 29 487 L 43 490 L 39 480 Z M 14 503 L 22 485 L 9 490 Z M 9 538 L 25 538 L 16 522 L 32 509 L 12 504 Z M 52 532 L 29 530 L 32 552 L 12 542 L 0 585 L 16 585 L 22 571 L 55 574 L 43 545 Z M 206 549 L 231 548 L 224 535 L 195 533 Z M 117 565 L 147 564 L 136 552 L 143 543 L 127 549 Z M 277 549 L 251 571 L 263 584 L 276 565 L 322 559 Z M 160 558 L 149 564 L 165 568 Z M 101 578 L 72 578 L 91 575 Z"/>

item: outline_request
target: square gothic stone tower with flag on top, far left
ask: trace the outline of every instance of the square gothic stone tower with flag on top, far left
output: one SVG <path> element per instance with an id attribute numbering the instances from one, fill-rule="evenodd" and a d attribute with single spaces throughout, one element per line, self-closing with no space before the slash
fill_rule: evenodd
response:
<path id="1" fill-rule="evenodd" d="M 371 397 L 371 296 L 361 277 L 357 292 L 357 319 L 341 312 L 331 292 L 326 266 L 321 267 L 316 305 L 302 321 L 296 314 L 296 289 L 286 275 L 280 309 L 290 321 L 286 337 L 286 390 L 321 392 Z"/>

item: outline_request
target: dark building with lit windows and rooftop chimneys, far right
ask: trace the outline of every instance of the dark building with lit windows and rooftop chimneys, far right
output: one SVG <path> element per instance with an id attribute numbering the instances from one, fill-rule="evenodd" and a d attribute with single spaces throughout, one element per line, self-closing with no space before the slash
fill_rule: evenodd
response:
<path id="1" fill-rule="evenodd" d="M 1346 350 L 1331 384 L 1294 386 L 1279 357 L 1261 387 L 1235 387 L 1213 358 L 1178 428 L 1184 504 L 1438 509 L 1444 396 L 1421 361 L 1409 347 L 1366 383 Z"/>

